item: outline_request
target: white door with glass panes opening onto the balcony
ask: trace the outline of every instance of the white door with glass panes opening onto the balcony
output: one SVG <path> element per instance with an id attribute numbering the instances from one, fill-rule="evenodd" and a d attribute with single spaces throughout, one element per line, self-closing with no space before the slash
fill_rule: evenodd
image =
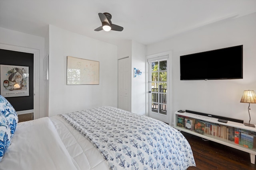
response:
<path id="1" fill-rule="evenodd" d="M 169 123 L 168 55 L 148 59 L 148 115 Z"/>

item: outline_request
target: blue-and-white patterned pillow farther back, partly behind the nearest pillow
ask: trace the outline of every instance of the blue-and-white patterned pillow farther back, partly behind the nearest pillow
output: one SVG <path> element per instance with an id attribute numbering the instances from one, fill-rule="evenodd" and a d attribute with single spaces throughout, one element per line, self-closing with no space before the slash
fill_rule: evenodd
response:
<path id="1" fill-rule="evenodd" d="M 0 111 L 9 122 L 9 128 L 11 131 L 11 138 L 12 138 L 18 123 L 18 115 L 15 109 L 10 104 L 10 102 L 8 102 L 8 100 L 6 100 L 6 98 L 4 98 L 1 95 L 0 95 Z"/>

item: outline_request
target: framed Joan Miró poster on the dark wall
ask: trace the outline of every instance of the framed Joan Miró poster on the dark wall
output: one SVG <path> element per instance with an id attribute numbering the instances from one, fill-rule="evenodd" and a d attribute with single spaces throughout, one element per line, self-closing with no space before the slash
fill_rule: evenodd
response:
<path id="1" fill-rule="evenodd" d="M 28 66 L 0 65 L 1 95 L 29 96 Z"/>

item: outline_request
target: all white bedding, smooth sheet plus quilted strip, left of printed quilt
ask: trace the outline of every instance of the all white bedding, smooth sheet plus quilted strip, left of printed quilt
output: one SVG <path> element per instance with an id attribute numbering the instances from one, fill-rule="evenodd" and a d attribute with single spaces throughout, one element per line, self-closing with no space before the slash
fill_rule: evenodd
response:
<path id="1" fill-rule="evenodd" d="M 0 170 L 109 170 L 100 151 L 62 117 L 18 123 Z"/>

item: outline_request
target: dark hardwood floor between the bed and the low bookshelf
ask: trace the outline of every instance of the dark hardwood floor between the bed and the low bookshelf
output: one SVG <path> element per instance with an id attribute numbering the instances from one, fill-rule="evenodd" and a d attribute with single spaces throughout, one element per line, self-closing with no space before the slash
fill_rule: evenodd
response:
<path id="1" fill-rule="evenodd" d="M 247 152 L 225 145 L 204 141 L 202 138 L 182 132 L 190 143 L 196 167 L 188 170 L 256 170 Z"/>

